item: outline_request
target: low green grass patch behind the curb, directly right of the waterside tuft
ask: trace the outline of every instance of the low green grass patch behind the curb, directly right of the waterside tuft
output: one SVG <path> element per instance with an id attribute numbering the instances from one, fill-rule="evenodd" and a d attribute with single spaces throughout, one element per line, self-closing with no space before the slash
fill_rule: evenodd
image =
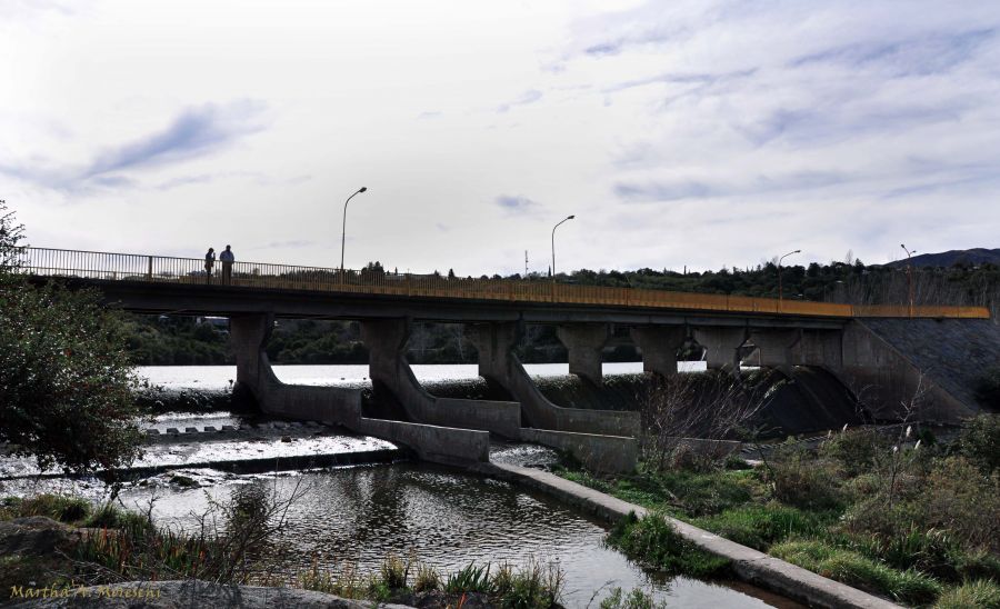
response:
<path id="1" fill-rule="evenodd" d="M 791 536 L 819 535 L 832 518 L 772 502 L 726 510 L 717 516 L 698 518 L 693 523 L 737 543 L 767 551 L 771 543 Z"/>

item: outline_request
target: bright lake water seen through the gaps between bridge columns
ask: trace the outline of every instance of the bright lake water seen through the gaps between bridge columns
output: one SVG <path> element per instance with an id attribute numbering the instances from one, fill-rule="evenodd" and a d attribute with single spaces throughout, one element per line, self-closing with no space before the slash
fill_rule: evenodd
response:
<path id="1" fill-rule="evenodd" d="M 413 365 L 413 373 L 422 382 L 468 380 L 479 376 L 474 363 Z M 704 370 L 703 361 L 680 361 L 684 372 Z M 358 386 L 368 381 L 368 366 L 274 366 L 274 375 L 293 385 Z M 569 373 L 568 363 L 528 363 L 524 369 L 536 377 L 559 377 Z M 604 375 L 630 375 L 642 371 L 642 362 L 604 362 Z M 167 389 L 226 389 L 236 381 L 236 366 L 140 366 L 140 377 Z"/>

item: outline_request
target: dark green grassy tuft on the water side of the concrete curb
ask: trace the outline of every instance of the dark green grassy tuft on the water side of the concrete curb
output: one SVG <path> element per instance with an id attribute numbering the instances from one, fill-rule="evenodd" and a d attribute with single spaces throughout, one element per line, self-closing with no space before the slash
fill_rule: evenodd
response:
<path id="1" fill-rule="evenodd" d="M 634 512 L 621 519 L 608 535 L 608 543 L 651 569 L 691 577 L 717 577 L 729 570 L 729 560 L 711 555 L 684 539 L 667 518 Z"/>

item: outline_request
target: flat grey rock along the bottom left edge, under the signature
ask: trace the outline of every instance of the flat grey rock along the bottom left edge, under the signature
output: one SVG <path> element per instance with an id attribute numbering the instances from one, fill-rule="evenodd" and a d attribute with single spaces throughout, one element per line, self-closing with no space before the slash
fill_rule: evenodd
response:
<path id="1" fill-rule="evenodd" d="M 62 592 L 66 590 L 66 592 Z M 27 588 L 26 588 L 27 591 Z M 21 600 L 12 599 L 18 608 L 113 608 L 133 609 L 189 609 L 213 607 L 218 609 L 369 609 L 371 601 L 348 600 L 333 595 L 294 588 L 264 588 L 260 586 L 223 586 L 200 580 L 127 582 L 89 588 L 59 589 L 61 597 Z M 20 601 L 20 602 L 19 602 Z M 382 605 L 386 609 L 406 609 L 404 605 Z"/>

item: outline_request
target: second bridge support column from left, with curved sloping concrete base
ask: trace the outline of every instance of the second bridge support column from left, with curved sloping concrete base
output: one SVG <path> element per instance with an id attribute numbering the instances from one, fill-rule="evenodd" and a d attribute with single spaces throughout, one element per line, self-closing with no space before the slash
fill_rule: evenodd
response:
<path id="1" fill-rule="evenodd" d="M 519 437 L 521 407 L 517 402 L 437 398 L 428 393 L 407 361 L 409 338 L 410 323 L 406 319 L 361 322 L 361 340 L 368 347 L 368 373 L 377 400 L 399 400 L 407 418 L 414 422 Z"/>

